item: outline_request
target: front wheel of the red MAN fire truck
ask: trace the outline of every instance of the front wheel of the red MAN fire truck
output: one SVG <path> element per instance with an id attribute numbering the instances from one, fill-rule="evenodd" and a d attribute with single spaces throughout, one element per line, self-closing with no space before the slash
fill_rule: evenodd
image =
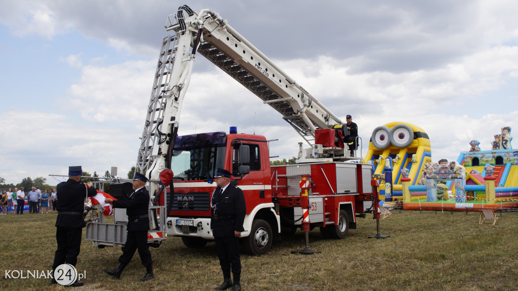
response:
<path id="1" fill-rule="evenodd" d="M 250 235 L 244 238 L 244 246 L 252 255 L 264 255 L 270 250 L 272 238 L 270 225 L 262 219 L 254 220 Z"/>

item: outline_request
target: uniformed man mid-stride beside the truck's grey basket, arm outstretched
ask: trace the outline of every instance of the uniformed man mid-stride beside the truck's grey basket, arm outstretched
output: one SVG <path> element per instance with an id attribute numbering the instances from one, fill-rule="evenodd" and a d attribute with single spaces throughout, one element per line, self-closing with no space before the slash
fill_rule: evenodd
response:
<path id="1" fill-rule="evenodd" d="M 113 208 L 126 208 L 128 216 L 126 243 L 119 257 L 119 265 L 116 269 L 104 271 L 110 276 L 120 279 L 122 270 L 130 263 L 135 251 L 138 250 L 142 265 L 146 267 L 146 274 L 140 281 L 153 279 L 153 260 L 148 245 L 149 230 L 149 193 L 146 189 L 148 179 L 141 173 L 135 173 L 133 178 L 133 192 L 126 200 L 106 198 L 106 203 L 113 203 Z"/>

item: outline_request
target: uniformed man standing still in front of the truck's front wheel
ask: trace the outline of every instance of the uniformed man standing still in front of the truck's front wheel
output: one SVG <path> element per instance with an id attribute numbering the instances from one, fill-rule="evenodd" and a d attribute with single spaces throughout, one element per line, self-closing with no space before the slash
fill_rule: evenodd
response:
<path id="1" fill-rule="evenodd" d="M 218 168 L 214 180 L 218 186 L 212 193 L 210 229 L 216 243 L 223 284 L 215 290 L 241 290 L 241 259 L 239 258 L 239 238 L 244 231 L 246 214 L 243 191 L 230 184 L 232 173 Z M 234 283 L 230 272 L 234 275 Z"/>

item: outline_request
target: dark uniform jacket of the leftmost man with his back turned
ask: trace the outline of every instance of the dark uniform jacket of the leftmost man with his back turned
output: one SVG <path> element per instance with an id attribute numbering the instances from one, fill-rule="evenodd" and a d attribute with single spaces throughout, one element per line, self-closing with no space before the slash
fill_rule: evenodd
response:
<path id="1" fill-rule="evenodd" d="M 82 182 L 68 179 L 57 184 L 57 219 L 55 226 L 85 227 L 83 220 L 84 198 L 97 195 L 95 187 L 88 187 Z M 78 212 L 79 214 L 62 214 L 61 212 Z"/>

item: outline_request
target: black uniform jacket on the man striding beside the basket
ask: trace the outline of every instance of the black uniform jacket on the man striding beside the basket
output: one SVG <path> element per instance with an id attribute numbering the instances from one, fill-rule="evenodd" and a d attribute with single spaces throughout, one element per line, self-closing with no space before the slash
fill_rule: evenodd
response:
<path id="1" fill-rule="evenodd" d="M 127 200 L 113 201 L 114 208 L 126 208 L 128 216 L 127 231 L 149 230 L 149 217 L 139 217 L 148 214 L 149 193 L 146 187 L 134 192 Z"/>

